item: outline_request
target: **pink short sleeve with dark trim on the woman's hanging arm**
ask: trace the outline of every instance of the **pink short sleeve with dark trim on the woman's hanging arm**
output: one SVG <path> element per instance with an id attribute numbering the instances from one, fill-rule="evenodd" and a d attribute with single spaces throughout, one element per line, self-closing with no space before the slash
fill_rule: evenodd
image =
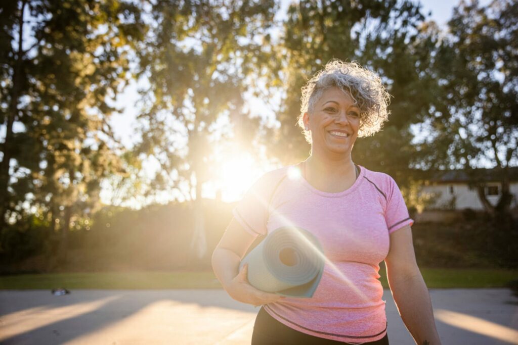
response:
<path id="1" fill-rule="evenodd" d="M 385 208 L 385 221 L 389 233 L 393 233 L 407 225 L 412 225 L 414 220 L 410 218 L 405 200 L 392 177 L 387 190 L 387 203 Z"/>

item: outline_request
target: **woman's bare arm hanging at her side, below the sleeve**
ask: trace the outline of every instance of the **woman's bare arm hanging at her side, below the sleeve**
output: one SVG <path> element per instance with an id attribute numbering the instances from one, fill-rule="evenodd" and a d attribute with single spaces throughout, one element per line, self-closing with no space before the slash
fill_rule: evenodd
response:
<path id="1" fill-rule="evenodd" d="M 401 319 L 418 345 L 440 345 L 430 295 L 415 261 L 410 226 L 390 234 L 387 278 Z"/>

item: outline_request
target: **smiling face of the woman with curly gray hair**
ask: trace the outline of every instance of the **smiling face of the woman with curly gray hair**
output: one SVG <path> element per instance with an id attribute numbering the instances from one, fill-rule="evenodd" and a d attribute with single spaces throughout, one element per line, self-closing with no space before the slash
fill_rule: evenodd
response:
<path id="1" fill-rule="evenodd" d="M 304 124 L 311 131 L 312 152 L 350 154 L 358 136 L 360 110 L 349 94 L 328 88 L 316 102 Z"/>

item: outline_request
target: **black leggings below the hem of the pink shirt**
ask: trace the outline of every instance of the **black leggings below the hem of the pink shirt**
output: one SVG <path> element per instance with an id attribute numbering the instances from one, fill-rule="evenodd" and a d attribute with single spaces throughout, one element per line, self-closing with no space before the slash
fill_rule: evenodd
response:
<path id="1" fill-rule="evenodd" d="M 257 314 L 252 335 L 252 345 L 344 345 L 347 342 L 314 337 L 306 333 L 295 331 L 283 323 L 272 318 L 264 308 Z M 377 341 L 364 342 L 365 345 L 389 345 L 389 338 L 385 336 Z"/>

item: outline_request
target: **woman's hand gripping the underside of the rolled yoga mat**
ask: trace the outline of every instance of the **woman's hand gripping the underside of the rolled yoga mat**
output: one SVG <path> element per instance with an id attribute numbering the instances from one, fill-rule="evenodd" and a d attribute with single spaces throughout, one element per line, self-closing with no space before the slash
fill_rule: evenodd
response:
<path id="1" fill-rule="evenodd" d="M 273 303 L 284 298 L 284 296 L 277 295 L 275 293 L 264 292 L 258 290 L 250 285 L 248 282 L 248 264 L 244 264 L 241 267 L 238 275 L 232 279 L 231 283 L 227 287 L 228 294 L 236 301 L 251 304 L 255 307 Z"/>

